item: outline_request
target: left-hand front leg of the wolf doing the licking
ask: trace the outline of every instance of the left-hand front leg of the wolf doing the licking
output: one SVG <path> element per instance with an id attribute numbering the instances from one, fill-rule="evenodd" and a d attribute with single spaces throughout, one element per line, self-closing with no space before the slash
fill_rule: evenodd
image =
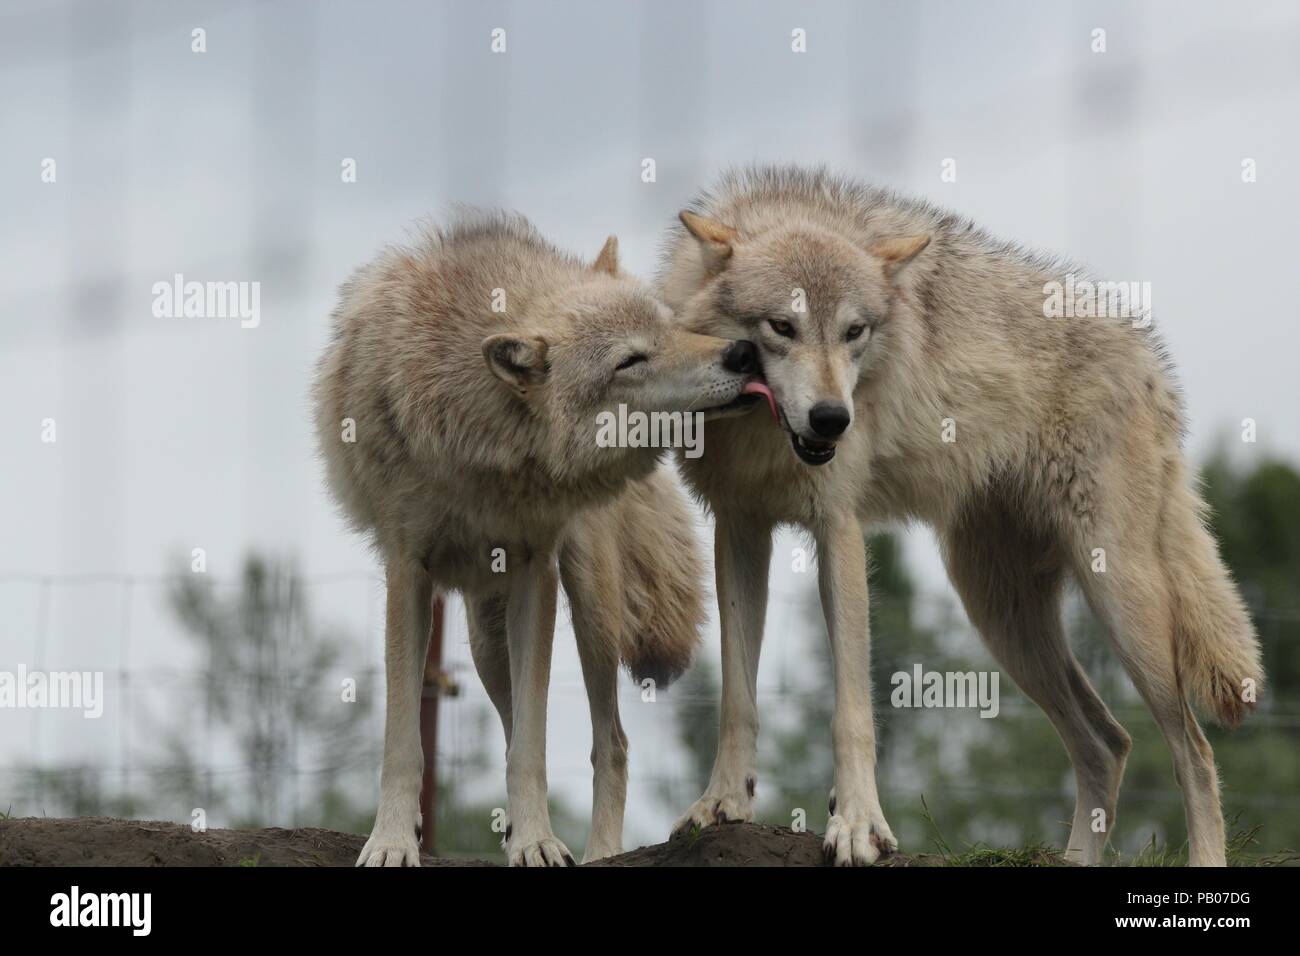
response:
<path id="1" fill-rule="evenodd" d="M 384 671 L 387 706 L 384 718 L 384 769 L 380 809 L 358 866 L 419 866 L 420 675 L 429 648 L 433 581 L 415 561 L 387 561 L 387 618 L 384 626 Z"/>

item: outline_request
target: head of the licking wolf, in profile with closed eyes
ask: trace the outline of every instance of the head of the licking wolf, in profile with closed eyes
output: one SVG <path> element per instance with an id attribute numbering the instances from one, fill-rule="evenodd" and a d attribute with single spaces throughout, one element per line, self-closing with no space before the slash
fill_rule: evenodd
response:
<path id="1" fill-rule="evenodd" d="M 644 285 L 619 272 L 614 237 L 577 281 L 532 302 L 521 329 L 486 337 L 482 354 L 500 386 L 546 431 L 549 458 L 559 464 L 552 471 L 623 477 L 628 468 L 653 467 L 658 447 L 597 441 L 602 414 L 719 416 L 759 398 L 754 346 L 673 321 Z"/>

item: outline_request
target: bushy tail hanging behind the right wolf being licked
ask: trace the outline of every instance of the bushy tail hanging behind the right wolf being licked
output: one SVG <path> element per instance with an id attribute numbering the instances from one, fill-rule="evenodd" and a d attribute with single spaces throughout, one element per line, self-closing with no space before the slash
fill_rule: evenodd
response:
<path id="1" fill-rule="evenodd" d="M 1235 727 L 1264 685 L 1260 641 L 1218 546 L 1208 507 L 1176 468 L 1161 533 L 1174 596 L 1174 659 L 1184 695 L 1221 724 Z"/>

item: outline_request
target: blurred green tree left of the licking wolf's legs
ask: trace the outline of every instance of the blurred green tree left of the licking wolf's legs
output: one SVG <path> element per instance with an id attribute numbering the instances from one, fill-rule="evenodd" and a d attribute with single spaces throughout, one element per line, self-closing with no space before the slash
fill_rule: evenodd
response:
<path id="1" fill-rule="evenodd" d="M 231 594 L 179 575 L 169 600 L 205 662 L 198 704 L 208 734 L 234 744 L 242 770 L 233 782 L 213 775 L 203 769 L 211 750 L 200 760 L 192 735 L 168 728 L 172 786 L 195 787 L 191 799 L 235 826 L 298 823 L 308 808 L 312 825 L 355 830 L 364 812 L 343 779 L 358 754 L 374 753 L 372 695 L 343 701 L 332 675 L 344 641 L 312 624 L 292 566 L 251 555 Z"/>

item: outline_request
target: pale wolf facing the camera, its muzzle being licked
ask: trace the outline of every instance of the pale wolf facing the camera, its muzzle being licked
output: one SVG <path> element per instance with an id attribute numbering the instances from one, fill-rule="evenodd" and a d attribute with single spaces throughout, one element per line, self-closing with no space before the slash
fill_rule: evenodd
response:
<path id="1" fill-rule="evenodd" d="M 677 829 L 753 816 L 771 532 L 805 528 L 835 672 L 824 849 L 897 840 L 876 790 L 863 525 L 937 536 L 966 613 L 1048 715 L 1078 786 L 1069 858 L 1101 860 L 1130 737 L 1061 622 L 1072 578 L 1173 752 L 1192 865 L 1223 865 L 1213 753 L 1188 701 L 1234 726 L 1264 674 L 1180 451 L 1183 411 L 1149 316 L 1046 319 L 1069 263 L 824 169 L 733 170 L 682 211 L 658 278 L 693 332 L 753 341 L 771 416 L 680 459 L 716 516 L 718 756 Z M 1104 814 L 1104 826 L 1095 823 Z"/>

